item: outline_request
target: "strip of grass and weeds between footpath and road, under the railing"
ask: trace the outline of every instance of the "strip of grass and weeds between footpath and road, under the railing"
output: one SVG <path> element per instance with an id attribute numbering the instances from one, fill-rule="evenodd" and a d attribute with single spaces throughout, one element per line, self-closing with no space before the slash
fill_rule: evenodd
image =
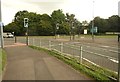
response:
<path id="1" fill-rule="evenodd" d="M 47 49 L 36 47 L 36 46 L 29 46 L 29 47 L 33 49 L 45 51 L 49 55 L 57 57 L 58 59 L 64 61 L 66 64 L 73 67 L 74 69 L 78 70 L 79 72 L 82 72 L 99 82 L 117 82 L 116 81 L 117 74 L 108 69 L 97 67 L 86 61 L 84 61 L 84 64 L 80 64 L 80 62 L 77 61 L 75 58 L 66 56 L 54 50 L 47 50 Z"/>

